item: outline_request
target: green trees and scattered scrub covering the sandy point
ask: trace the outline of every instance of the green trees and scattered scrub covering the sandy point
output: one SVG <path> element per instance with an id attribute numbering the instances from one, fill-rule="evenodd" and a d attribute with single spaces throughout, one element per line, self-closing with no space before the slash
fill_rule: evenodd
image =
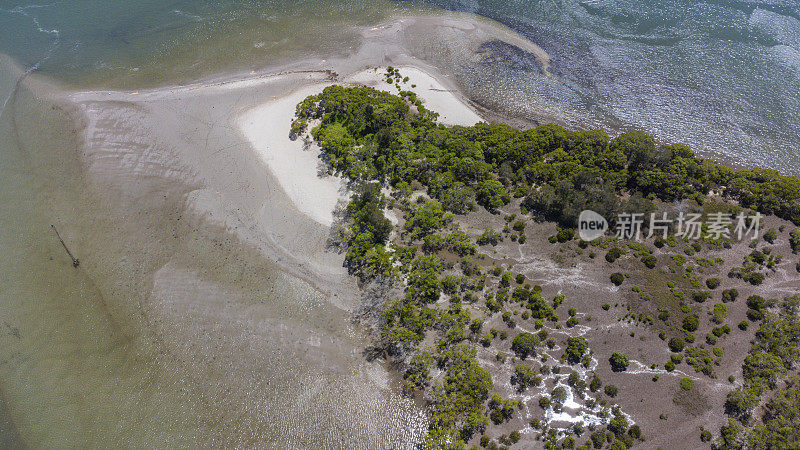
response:
<path id="1" fill-rule="evenodd" d="M 400 80 L 398 86 L 404 82 L 393 68 L 387 79 Z M 696 157 L 685 145 L 659 145 L 642 132 L 612 139 L 603 131 L 557 125 L 524 131 L 487 123 L 447 127 L 412 91 L 392 95 L 342 86 L 327 87 L 300 103 L 292 132 L 310 133 L 331 171 L 351 181 L 354 195 L 337 228 L 338 240 L 348 269 L 363 285 L 391 287 L 380 291 L 377 302 L 375 350 L 401 363 L 405 394 L 429 406 L 426 448 L 498 448 L 534 435 L 552 448 L 581 442 L 628 448 L 645 438 L 647 430 L 613 406 L 611 399 L 624 394 L 624 385 L 604 386 L 596 373 L 604 365 L 615 376 L 627 376 L 638 367 L 633 356 L 609 351 L 595 357 L 591 339 L 565 336 L 561 331 L 577 330 L 592 317 L 571 307 L 570 298 L 545 292 L 524 273 L 512 273 L 511 264 L 495 255 L 530 239 L 526 225 L 554 222 L 550 243 L 559 249 L 557 258 L 566 257 L 559 252 L 569 253 L 602 267 L 608 271 L 606 284 L 635 299 L 619 320 L 661 330 L 658 345 L 672 355 L 660 365 L 665 373 L 685 363 L 683 371 L 688 366 L 709 379 L 727 357 L 721 346 L 709 346 L 731 332 L 746 332 L 746 326 L 728 324 L 733 305 L 742 304 L 737 289 L 769 283 L 781 263 L 770 253 L 770 241 L 783 239 L 800 249 L 798 228 L 773 230 L 741 265 L 710 276 L 728 264 L 706 255 L 709 248 L 725 248 L 722 240 L 698 244 L 670 236 L 651 239 L 652 245 L 611 238 L 576 244 L 576 219 L 584 209 L 613 225 L 618 213 L 661 211 L 681 200 L 711 208 L 711 196 L 723 199 L 731 211 L 750 208 L 800 225 L 797 178 L 765 169 L 733 170 Z M 386 217 L 387 210 L 398 216 L 397 225 Z M 480 212 L 496 217 L 497 224 L 464 225 L 465 215 Z M 595 259 L 601 254 L 605 258 Z M 703 272 L 709 275 L 701 277 Z M 629 276 L 642 281 L 635 284 Z M 800 355 L 800 329 L 789 314 L 797 300 L 786 298 L 776 314 L 774 301 L 755 294 L 747 298 L 748 320 L 760 325 L 742 363 L 743 384 L 726 402 L 730 420 L 715 438 L 720 446 L 742 448 L 750 442 L 753 448 L 777 448 L 794 442 L 800 426 L 798 385 L 787 376 Z M 620 310 L 611 303 L 601 311 L 608 317 Z M 696 333 L 707 334 L 704 339 Z M 556 350 L 555 357 L 548 353 Z M 503 365 L 510 377 L 493 379 Z M 517 392 L 539 392 L 548 377 L 565 384 L 537 394 L 537 408 L 561 411 L 574 395 L 597 412 L 601 425 L 555 432 L 531 418 L 527 425 L 533 434 L 510 429 L 508 424 L 519 423 L 521 411 L 532 406 L 504 398 L 498 386 L 510 383 Z M 658 380 L 652 377 L 651 383 Z M 680 403 L 700 396 L 699 384 L 682 377 Z"/>

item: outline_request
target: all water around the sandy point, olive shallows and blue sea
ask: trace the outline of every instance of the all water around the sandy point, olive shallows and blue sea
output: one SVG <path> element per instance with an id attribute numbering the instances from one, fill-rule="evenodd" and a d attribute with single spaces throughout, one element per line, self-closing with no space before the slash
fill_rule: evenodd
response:
<path id="1" fill-rule="evenodd" d="M 800 173 L 792 2 L 7 1 L 0 53 L 68 85 L 133 89 L 345 54 L 351 25 L 428 5 L 498 20 L 552 57 L 547 76 L 501 42 L 417 49 L 487 106 Z M 366 340 L 346 313 L 219 230 L 179 225 L 187 187 L 137 214 L 93 191 L 67 113 L 12 95 L 19 75 L 0 70 L 0 447 L 410 439 L 413 408 L 365 388 L 385 372 L 353 353 Z"/>

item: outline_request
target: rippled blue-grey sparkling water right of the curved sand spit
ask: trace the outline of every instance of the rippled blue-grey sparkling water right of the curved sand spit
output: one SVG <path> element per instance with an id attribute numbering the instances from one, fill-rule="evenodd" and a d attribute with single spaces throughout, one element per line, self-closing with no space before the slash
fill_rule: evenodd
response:
<path id="1" fill-rule="evenodd" d="M 800 174 L 796 1 L 430 3 L 497 20 L 552 57 L 548 77 L 514 49 L 459 68 L 472 96 L 492 107 L 575 127 L 646 130 L 737 166 Z"/>

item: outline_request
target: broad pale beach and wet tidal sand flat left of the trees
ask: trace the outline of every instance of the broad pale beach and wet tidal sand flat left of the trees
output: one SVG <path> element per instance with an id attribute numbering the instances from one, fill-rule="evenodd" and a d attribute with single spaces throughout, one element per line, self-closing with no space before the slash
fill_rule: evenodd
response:
<path id="1" fill-rule="evenodd" d="M 359 29 L 362 43 L 346 58 L 131 91 L 70 91 L 28 77 L 25 89 L 54 103 L 35 117 L 58 119 L 51 128 L 60 159 L 37 163 L 52 184 L 37 195 L 66 205 L 43 213 L 33 234 L 30 245 L 41 249 L 32 255 L 47 267 L 30 289 L 42 277 L 55 280 L 48 287 L 75 289 L 72 303 L 60 292 L 36 303 L 45 311 L 15 322 L 25 335 L 26 320 L 52 317 L 30 328 L 44 327 L 42 339 L 71 338 L 46 339 L 47 351 L 15 341 L 9 348 L 36 370 L 6 373 L 24 383 L 8 391 L 58 385 L 65 398 L 102 399 L 66 402 L 41 422 L 77 417 L 92 430 L 117 430 L 97 434 L 101 447 L 151 446 L 153 436 L 174 446 L 417 442 L 424 412 L 398 395 L 380 361 L 364 358 L 369 338 L 352 321 L 360 292 L 343 255 L 328 248 L 331 212 L 346 186 L 318 176 L 319 149 L 303 151 L 289 139 L 289 124 L 296 103 L 332 83 L 394 90 L 383 81 L 388 65 L 411 78 L 408 86 L 417 85 L 442 122 L 473 124 L 479 108 L 435 61 L 414 56 L 420 52 L 408 36 L 446 32 L 478 42 L 492 30 L 458 14 L 403 17 Z M 17 125 L 25 137 L 25 122 Z M 57 240 L 45 238 L 50 223 L 80 257 L 78 270 L 63 261 Z M 65 316 L 64 308 L 76 313 Z M 84 355 L 79 362 L 76 354 Z M 5 401 L 14 411 L 28 400 Z M 54 440 L 15 417 L 26 442 L 86 442 L 80 433 Z"/>

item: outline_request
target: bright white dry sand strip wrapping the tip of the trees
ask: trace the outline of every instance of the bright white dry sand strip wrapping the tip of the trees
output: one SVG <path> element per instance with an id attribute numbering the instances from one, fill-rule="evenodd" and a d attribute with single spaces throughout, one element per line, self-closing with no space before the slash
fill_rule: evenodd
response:
<path id="1" fill-rule="evenodd" d="M 385 81 L 384 68 L 358 72 L 340 84 L 360 84 L 396 93 Z M 417 93 L 425 106 L 440 114 L 439 121 L 448 125 L 474 125 L 481 117 L 445 85 L 413 67 L 401 67 L 408 76 L 403 89 Z M 239 129 L 267 164 L 292 203 L 303 214 L 326 226 L 333 224 L 333 211 L 349 193 L 344 179 L 320 175 L 320 149 L 312 145 L 304 150 L 301 139 L 291 140 L 289 128 L 295 106 L 309 95 L 318 94 L 332 82 L 316 83 L 277 97 L 245 111 L 236 120 Z M 415 84 L 415 88 L 411 85 Z"/>

